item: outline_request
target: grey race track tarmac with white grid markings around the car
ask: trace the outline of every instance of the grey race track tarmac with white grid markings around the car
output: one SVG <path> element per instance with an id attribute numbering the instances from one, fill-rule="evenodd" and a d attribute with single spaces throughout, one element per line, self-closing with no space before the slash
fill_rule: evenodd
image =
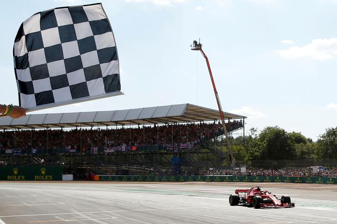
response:
<path id="1" fill-rule="evenodd" d="M 230 206 L 256 183 L 3 182 L 0 224 L 337 223 L 337 186 L 260 183 L 293 208 Z"/>

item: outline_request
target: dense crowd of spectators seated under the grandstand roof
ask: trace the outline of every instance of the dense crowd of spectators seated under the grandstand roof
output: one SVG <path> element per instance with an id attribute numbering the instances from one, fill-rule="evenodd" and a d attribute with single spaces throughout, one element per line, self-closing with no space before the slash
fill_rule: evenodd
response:
<path id="1" fill-rule="evenodd" d="M 242 121 L 228 121 L 229 132 L 243 126 Z M 116 128 L 39 129 L 3 131 L 1 149 L 57 149 L 80 147 L 116 147 L 180 144 L 204 141 L 223 134 L 220 122 L 151 126 L 121 126 Z"/>

